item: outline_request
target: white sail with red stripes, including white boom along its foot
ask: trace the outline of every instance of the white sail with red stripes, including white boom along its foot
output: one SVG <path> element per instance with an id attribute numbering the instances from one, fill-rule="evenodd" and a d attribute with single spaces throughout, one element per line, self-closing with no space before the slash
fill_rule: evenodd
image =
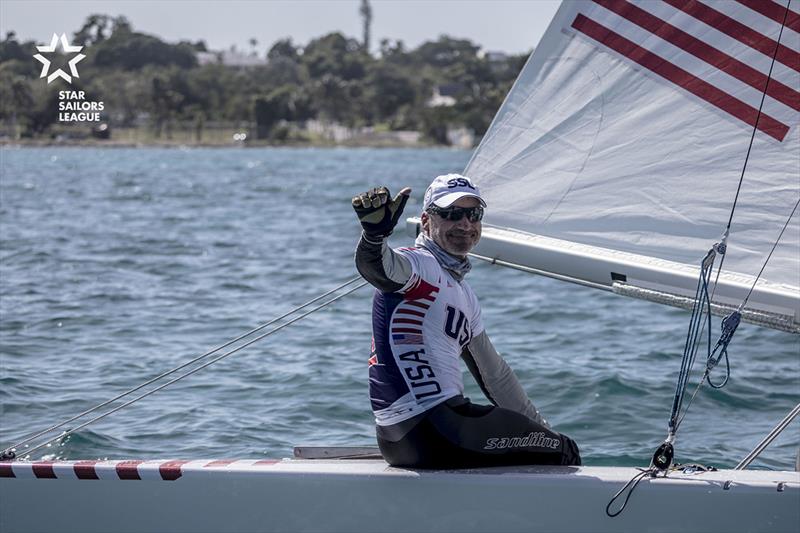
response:
<path id="1" fill-rule="evenodd" d="M 786 4 L 564 2 L 465 170 L 488 203 L 476 253 L 690 302 L 755 127 L 714 301 L 744 300 L 788 220 L 747 311 L 797 330 L 800 2 Z"/>

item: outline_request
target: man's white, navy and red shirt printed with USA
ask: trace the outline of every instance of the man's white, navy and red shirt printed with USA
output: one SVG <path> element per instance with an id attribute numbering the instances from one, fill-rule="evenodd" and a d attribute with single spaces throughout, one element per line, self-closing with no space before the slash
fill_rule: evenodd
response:
<path id="1" fill-rule="evenodd" d="M 399 248 L 411 264 L 397 292 L 375 291 L 369 393 L 388 426 L 463 394 L 461 350 L 483 331 L 478 298 L 424 248 Z"/>

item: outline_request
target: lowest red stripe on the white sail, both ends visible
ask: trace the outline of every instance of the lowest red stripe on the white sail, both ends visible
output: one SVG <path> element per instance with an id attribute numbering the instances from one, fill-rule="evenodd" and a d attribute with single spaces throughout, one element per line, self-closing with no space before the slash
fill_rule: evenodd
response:
<path id="1" fill-rule="evenodd" d="M 757 109 L 629 41 L 622 35 L 583 15 L 575 17 L 572 27 L 739 120 L 751 126 L 756 125 Z M 778 141 L 782 141 L 789 132 L 789 127 L 786 124 L 764 113 L 761 114 L 761 117 L 758 117 L 757 127 Z"/>

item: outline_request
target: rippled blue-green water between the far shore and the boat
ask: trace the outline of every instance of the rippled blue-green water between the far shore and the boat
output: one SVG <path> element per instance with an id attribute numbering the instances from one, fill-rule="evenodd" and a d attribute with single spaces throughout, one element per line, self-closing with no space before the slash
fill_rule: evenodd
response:
<path id="1" fill-rule="evenodd" d="M 430 179 L 469 155 L 3 148 L 0 443 L 354 277 L 350 197 L 410 185 L 415 214 Z M 410 242 L 396 233 L 395 245 Z M 688 314 L 480 262 L 468 279 L 494 344 L 585 463 L 648 463 L 665 437 Z M 257 458 L 299 444 L 374 445 L 370 298 L 361 289 L 33 458 Z M 730 384 L 702 389 L 685 419 L 680 462 L 735 465 L 800 397 L 797 337 L 742 325 L 730 353 Z M 465 381 L 480 401 L 466 372 Z M 796 421 L 758 464 L 791 467 L 798 442 Z"/>

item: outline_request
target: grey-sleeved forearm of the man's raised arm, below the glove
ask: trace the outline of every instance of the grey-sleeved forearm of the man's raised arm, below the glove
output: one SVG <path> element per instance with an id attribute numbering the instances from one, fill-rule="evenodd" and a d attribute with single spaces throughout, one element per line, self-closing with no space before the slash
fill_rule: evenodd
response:
<path id="1" fill-rule="evenodd" d="M 383 292 L 402 289 L 411 277 L 408 259 L 389 248 L 385 238 L 363 233 L 356 247 L 356 268 L 365 280 Z"/>

